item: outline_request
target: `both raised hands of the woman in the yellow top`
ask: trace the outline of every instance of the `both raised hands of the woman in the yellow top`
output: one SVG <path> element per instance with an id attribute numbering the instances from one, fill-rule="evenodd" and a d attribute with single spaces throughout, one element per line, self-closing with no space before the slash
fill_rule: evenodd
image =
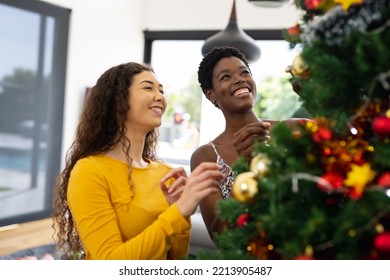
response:
<path id="1" fill-rule="evenodd" d="M 204 197 L 220 191 L 218 180 L 224 177 L 220 168 L 216 163 L 203 162 L 188 177 L 183 168 L 172 169 L 160 182 L 168 203 L 176 202 L 183 216 L 191 216 Z M 175 182 L 167 187 L 165 183 L 170 178 Z"/>

